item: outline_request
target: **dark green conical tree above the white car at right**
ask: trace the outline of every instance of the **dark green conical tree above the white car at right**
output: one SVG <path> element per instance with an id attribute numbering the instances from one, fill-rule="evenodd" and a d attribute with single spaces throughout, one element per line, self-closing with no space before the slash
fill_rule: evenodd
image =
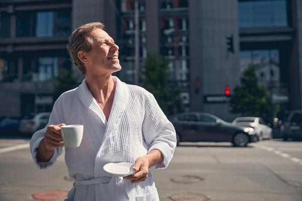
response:
<path id="1" fill-rule="evenodd" d="M 259 85 L 255 67 L 249 66 L 241 77 L 241 85 L 234 88 L 230 99 L 232 113 L 241 113 L 244 116 L 262 117 L 270 109 L 266 89 Z"/>

